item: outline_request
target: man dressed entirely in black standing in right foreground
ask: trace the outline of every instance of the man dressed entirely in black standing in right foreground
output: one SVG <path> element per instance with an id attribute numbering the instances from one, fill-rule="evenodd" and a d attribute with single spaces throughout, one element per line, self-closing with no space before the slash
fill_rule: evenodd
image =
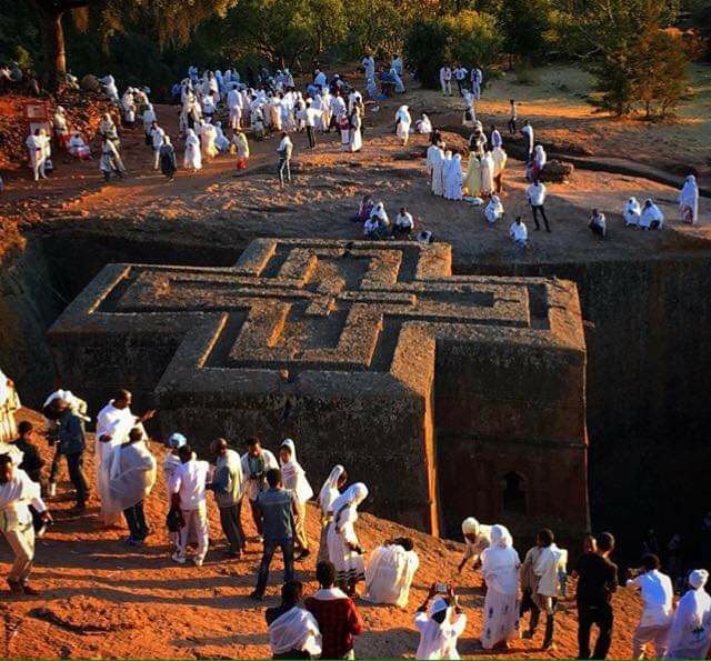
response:
<path id="1" fill-rule="evenodd" d="M 618 588 L 618 567 L 609 557 L 614 550 L 614 538 L 601 532 L 597 550 L 583 553 L 575 564 L 578 575 L 578 645 L 579 659 L 590 659 L 590 630 L 600 630 L 592 659 L 604 659 L 612 642 L 612 594 Z"/>

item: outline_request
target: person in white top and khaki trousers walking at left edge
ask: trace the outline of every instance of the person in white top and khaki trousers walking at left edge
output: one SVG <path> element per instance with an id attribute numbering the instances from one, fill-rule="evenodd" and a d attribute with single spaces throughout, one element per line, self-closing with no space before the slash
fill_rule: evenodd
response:
<path id="1" fill-rule="evenodd" d="M 8 454 L 0 454 L 0 530 L 14 553 L 14 562 L 8 574 L 12 594 L 37 597 L 39 590 L 28 585 L 34 560 L 34 528 L 29 505 L 32 505 L 44 523 L 52 517 L 40 497 L 40 485 L 16 468 Z"/>

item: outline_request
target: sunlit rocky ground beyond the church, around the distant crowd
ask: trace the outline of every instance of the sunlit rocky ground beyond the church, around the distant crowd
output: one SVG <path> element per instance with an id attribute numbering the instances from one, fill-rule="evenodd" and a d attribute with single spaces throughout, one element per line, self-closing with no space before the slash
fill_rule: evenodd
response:
<path id="1" fill-rule="evenodd" d="M 618 121 L 594 113 L 581 98 L 587 81 L 578 70 L 557 67 L 537 76 L 538 82 L 531 86 L 519 84 L 511 76 L 494 82 L 478 108 L 484 124 L 503 124 L 507 100 L 513 96 L 521 101 L 520 118 L 532 120 L 537 137 L 549 150 L 580 153 L 583 138 L 589 138 L 589 152 L 595 157 L 624 154 L 635 162 L 663 166 L 674 174 L 680 172 L 680 162 L 703 169 L 707 142 L 711 142 L 707 130 L 711 113 L 704 104 L 708 68 L 699 69 L 694 78 L 698 94 L 682 107 L 673 124 Z M 368 106 L 365 146 L 359 154 L 340 152 L 334 134 L 322 137 L 313 151 L 304 149 L 303 136 L 297 136 L 294 181 L 279 190 L 273 174 L 276 139 L 251 143 L 253 157 L 246 173 L 236 177 L 233 158 L 220 157 L 197 176 L 179 171 L 176 181 L 168 182 L 151 170 L 152 157 L 137 128 L 123 136 L 130 172 L 124 181 L 103 184 L 97 161 L 72 163 L 61 157 L 58 172 L 39 186 L 28 181 L 23 171 L 10 173 L 0 213 L 27 222 L 53 219 L 58 224 L 82 224 L 123 236 L 150 238 L 170 232 L 176 240 L 243 246 L 249 238 L 269 234 L 357 238 L 361 228 L 348 218 L 362 194 L 372 192 L 385 202 L 391 218 L 407 204 L 437 239 L 452 242 L 455 261 L 463 264 L 645 258 L 708 247 L 708 199 L 701 202 L 700 226 L 681 228 L 677 189 L 638 177 L 577 170 L 570 183 L 549 187 L 547 207 L 553 233 L 533 232 L 529 222 L 531 248 L 513 251 L 508 224 L 518 213 L 528 217 L 529 212 L 522 164 L 510 161 L 503 196 L 507 219 L 490 228 L 479 209 L 429 193 L 422 160 L 425 139 L 413 137 L 402 148 L 392 134 L 392 118 L 400 103 L 411 106 L 413 118 L 427 111 L 444 129 L 461 131 L 459 99 L 413 89 L 380 106 Z M 177 111 L 176 107 L 158 107 L 159 121 L 174 140 Z M 452 144 L 463 148 L 460 136 L 450 138 Z M 508 139 L 504 136 L 504 146 Z M 689 146 L 683 153 L 682 142 Z M 181 159 L 180 143 L 178 151 Z M 654 233 L 625 230 L 620 211 L 630 196 L 654 197 L 668 217 L 668 229 Z M 593 240 L 587 229 L 593 207 L 608 217 L 609 240 L 604 243 Z"/>

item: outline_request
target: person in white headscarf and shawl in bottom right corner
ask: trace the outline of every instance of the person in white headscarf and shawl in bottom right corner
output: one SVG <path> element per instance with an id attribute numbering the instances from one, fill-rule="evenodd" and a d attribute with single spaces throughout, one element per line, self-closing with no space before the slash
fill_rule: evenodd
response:
<path id="1" fill-rule="evenodd" d="M 711 644 L 711 597 L 705 569 L 689 574 L 689 591 L 679 600 L 669 629 L 664 659 L 705 659 Z"/>

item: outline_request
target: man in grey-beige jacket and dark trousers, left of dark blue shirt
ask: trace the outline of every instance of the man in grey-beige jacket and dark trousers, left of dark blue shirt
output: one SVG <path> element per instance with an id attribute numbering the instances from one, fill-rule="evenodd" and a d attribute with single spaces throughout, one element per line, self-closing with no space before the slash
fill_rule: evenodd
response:
<path id="1" fill-rule="evenodd" d="M 224 439 L 218 439 L 212 443 L 212 454 L 216 459 L 210 489 L 220 509 L 220 524 L 229 544 L 227 555 L 241 558 L 244 547 L 244 530 L 240 517 L 244 494 L 242 462 L 240 455 L 230 450 Z"/>

